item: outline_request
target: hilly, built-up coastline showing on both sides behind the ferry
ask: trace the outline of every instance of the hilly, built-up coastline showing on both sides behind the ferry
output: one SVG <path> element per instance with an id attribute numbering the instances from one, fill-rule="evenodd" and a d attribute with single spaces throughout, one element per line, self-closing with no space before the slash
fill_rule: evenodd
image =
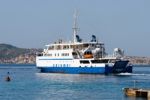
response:
<path id="1" fill-rule="evenodd" d="M 18 48 L 8 44 L 0 44 L 0 64 L 35 64 L 36 53 L 42 49 Z M 150 65 L 150 58 L 125 56 L 133 65 Z"/>

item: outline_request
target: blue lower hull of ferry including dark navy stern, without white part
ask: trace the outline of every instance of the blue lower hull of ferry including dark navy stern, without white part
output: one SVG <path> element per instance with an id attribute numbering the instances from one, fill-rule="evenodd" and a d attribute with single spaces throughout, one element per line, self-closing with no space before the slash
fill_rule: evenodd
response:
<path id="1" fill-rule="evenodd" d="M 120 67 L 122 71 L 114 67 L 96 67 L 96 68 L 80 68 L 80 67 L 38 67 L 42 73 L 68 73 L 68 74 L 115 74 L 115 73 L 132 73 L 132 66 Z M 115 71 L 114 71 L 115 70 Z"/>

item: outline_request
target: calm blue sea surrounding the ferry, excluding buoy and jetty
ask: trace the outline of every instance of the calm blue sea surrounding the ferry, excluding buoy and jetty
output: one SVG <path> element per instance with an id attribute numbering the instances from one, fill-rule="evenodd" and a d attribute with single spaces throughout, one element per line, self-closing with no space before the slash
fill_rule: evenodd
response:
<path id="1" fill-rule="evenodd" d="M 10 72 L 11 82 L 5 77 Z M 150 66 L 132 74 L 88 75 L 40 73 L 34 65 L 0 65 L 0 100 L 135 100 L 122 88 L 150 89 Z M 144 100 L 138 98 L 136 100 Z"/>

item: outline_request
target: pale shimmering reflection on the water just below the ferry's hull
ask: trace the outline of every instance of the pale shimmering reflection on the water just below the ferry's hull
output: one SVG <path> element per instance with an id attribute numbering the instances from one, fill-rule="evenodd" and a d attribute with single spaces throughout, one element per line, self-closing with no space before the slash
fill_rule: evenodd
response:
<path id="1" fill-rule="evenodd" d="M 63 81 L 63 82 L 84 82 L 96 81 L 104 79 L 105 75 L 91 75 L 91 74 L 62 74 L 62 73 L 36 73 L 36 76 L 45 80 Z"/>

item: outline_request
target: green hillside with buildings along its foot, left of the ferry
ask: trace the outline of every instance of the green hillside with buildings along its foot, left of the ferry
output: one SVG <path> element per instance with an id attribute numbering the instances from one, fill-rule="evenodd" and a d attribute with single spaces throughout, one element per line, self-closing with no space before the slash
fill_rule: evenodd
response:
<path id="1" fill-rule="evenodd" d="M 0 44 L 0 63 L 35 63 L 36 52 L 41 49 L 18 48 L 9 44 Z"/>

